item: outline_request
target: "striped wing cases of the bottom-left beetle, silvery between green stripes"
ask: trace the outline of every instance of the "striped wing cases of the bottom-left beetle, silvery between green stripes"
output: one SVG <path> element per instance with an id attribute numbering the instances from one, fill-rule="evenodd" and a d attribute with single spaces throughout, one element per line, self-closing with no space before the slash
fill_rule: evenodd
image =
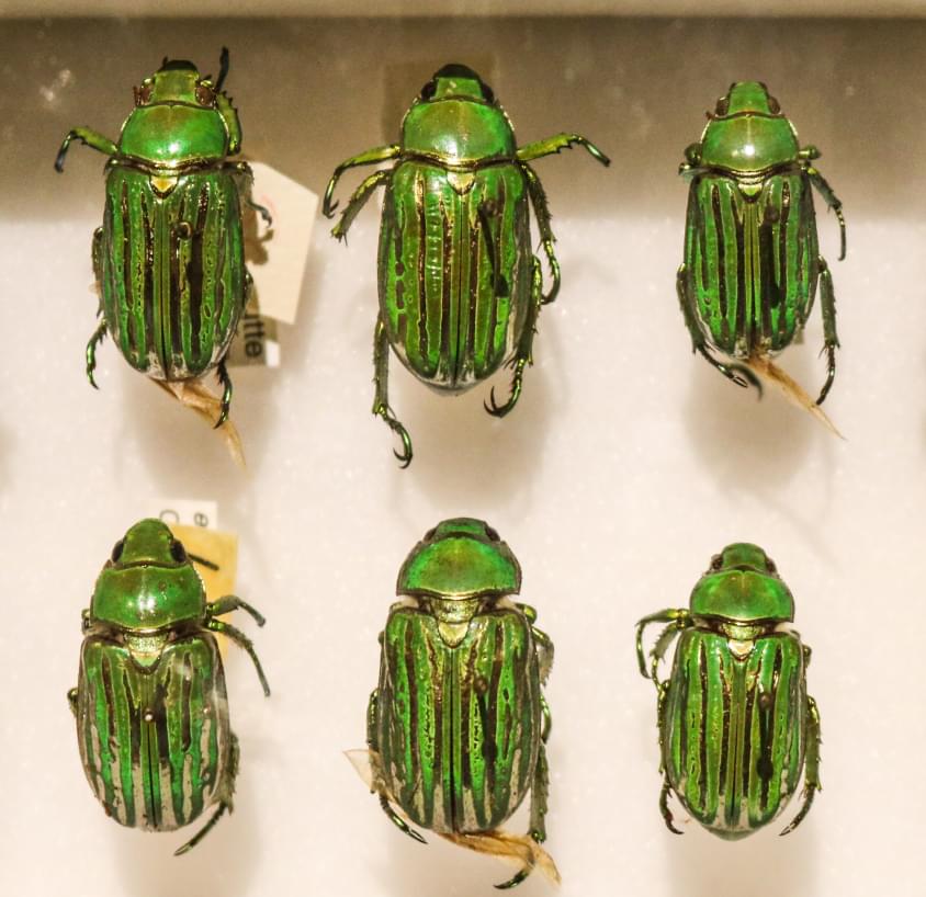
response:
<path id="1" fill-rule="evenodd" d="M 90 636 L 78 682 L 80 758 L 106 814 L 151 831 L 196 819 L 215 801 L 230 762 L 215 638 L 178 638 L 147 667 L 112 635 Z"/>

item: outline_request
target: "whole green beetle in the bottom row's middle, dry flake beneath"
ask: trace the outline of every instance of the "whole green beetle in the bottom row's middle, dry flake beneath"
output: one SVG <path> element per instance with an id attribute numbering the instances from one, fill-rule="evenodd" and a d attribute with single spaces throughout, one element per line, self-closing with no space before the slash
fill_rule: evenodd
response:
<path id="1" fill-rule="evenodd" d="M 537 613 L 510 595 L 521 569 L 481 520 L 445 520 L 402 566 L 402 601 L 380 635 L 380 685 L 370 696 L 373 788 L 406 834 L 413 824 L 472 850 L 507 855 L 521 870 L 556 877 L 539 844 L 546 838 L 545 743 L 550 711 L 541 693 L 553 644 Z M 531 792 L 530 831 L 498 831 Z M 399 807 L 399 816 L 392 804 Z"/>

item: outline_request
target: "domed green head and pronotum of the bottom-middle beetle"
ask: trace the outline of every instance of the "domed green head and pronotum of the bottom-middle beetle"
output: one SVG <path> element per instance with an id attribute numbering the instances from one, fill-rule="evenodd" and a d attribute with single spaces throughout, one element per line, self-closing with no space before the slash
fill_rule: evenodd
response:
<path id="1" fill-rule="evenodd" d="M 482 520 L 444 520 L 425 534 L 398 574 L 396 592 L 452 601 L 517 594 L 521 568 Z"/>

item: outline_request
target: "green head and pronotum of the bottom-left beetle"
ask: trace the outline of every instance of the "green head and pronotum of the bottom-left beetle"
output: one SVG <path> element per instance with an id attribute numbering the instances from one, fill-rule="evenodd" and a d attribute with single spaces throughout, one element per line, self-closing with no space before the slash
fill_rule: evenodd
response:
<path id="1" fill-rule="evenodd" d="M 113 546 L 90 602 L 90 621 L 150 632 L 202 620 L 205 590 L 183 544 L 159 520 L 142 520 Z"/>

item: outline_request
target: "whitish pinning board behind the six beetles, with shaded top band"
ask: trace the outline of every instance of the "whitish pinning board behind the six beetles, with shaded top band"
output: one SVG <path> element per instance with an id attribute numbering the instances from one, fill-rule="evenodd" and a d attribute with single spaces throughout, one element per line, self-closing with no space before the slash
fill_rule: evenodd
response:
<path id="1" fill-rule="evenodd" d="M 578 150 L 535 166 L 563 289 L 509 418 L 482 410 L 488 385 L 441 398 L 393 364 L 416 449 L 398 469 L 370 415 L 375 204 L 347 247 L 315 228 L 298 322 L 280 329 L 283 366 L 234 374 L 249 476 L 110 342 L 100 391 L 86 384 L 103 159 L 76 146 L 58 175 L 58 144 L 74 125 L 114 136 L 133 83 L 165 54 L 215 71 L 223 44 L 246 151 L 316 192 L 341 159 L 394 139 L 402 107 L 450 60 L 487 60 L 521 143 L 576 129 L 609 152 L 607 171 Z M 556 643 L 547 847 L 563 897 L 922 894 L 924 48 L 926 25 L 912 22 L 4 23 L 0 894 L 492 894 L 507 868 L 403 838 L 341 756 L 363 746 L 399 565 L 455 514 L 509 542 L 523 600 Z M 846 442 L 725 383 L 691 355 L 678 311 L 676 168 L 703 111 L 743 78 L 769 83 L 845 203 L 845 262 L 822 208 L 820 225 L 843 341 L 826 407 Z M 808 385 L 823 376 L 821 336 L 814 315 L 782 356 Z M 183 833 L 104 817 L 65 701 L 80 610 L 153 495 L 208 496 L 239 534 L 238 591 L 268 618 L 240 625 L 273 688 L 264 700 L 248 658 L 229 651 L 236 810 L 181 859 Z M 684 604 L 733 540 L 766 546 L 794 592 L 824 791 L 794 834 L 772 826 L 731 844 L 663 826 L 633 624 Z M 551 892 L 538 878 L 519 893 Z"/>

